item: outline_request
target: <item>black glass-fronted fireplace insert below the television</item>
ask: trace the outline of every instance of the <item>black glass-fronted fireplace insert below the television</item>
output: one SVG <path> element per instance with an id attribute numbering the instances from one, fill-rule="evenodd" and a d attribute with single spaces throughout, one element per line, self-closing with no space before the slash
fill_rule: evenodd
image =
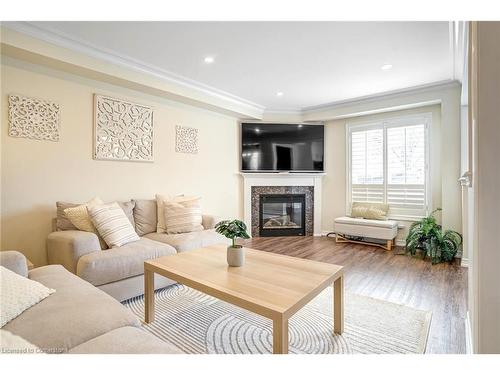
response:
<path id="1" fill-rule="evenodd" d="M 260 194 L 260 236 L 304 236 L 305 221 L 305 194 Z"/>

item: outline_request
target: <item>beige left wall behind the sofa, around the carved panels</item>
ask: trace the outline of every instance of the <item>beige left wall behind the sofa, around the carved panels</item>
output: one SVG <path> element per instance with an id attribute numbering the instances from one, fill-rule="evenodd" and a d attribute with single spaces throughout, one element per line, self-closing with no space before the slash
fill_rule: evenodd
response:
<path id="1" fill-rule="evenodd" d="M 12 59 L 3 60 L 1 82 L 2 250 L 18 249 L 36 265 L 45 264 L 45 239 L 57 200 L 99 196 L 112 201 L 183 192 L 201 195 L 207 213 L 241 217 L 235 118 Z M 9 137 L 9 93 L 58 102 L 60 141 Z M 94 93 L 154 107 L 154 163 L 92 159 Z M 199 129 L 197 155 L 174 151 L 175 125 Z"/>

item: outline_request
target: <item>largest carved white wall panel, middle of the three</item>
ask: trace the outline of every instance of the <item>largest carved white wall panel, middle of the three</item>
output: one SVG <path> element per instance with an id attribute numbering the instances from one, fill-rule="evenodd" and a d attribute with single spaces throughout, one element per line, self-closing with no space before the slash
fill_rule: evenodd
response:
<path id="1" fill-rule="evenodd" d="M 120 99 L 94 95 L 94 158 L 153 159 L 153 109 Z"/>

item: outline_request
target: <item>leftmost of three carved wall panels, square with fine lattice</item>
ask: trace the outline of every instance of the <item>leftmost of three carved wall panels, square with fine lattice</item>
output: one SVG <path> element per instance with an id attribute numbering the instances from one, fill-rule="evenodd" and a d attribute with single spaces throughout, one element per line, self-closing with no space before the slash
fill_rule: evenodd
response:
<path id="1" fill-rule="evenodd" d="M 59 140 L 59 104 L 48 100 L 9 95 L 9 135 Z"/>

